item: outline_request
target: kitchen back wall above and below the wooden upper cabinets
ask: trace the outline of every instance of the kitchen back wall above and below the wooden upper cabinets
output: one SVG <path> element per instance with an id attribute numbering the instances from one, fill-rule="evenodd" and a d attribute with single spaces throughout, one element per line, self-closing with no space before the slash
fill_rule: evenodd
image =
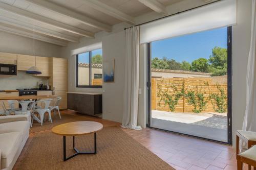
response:
<path id="1" fill-rule="evenodd" d="M 0 52 L 33 55 L 33 39 L 0 32 Z M 61 46 L 35 40 L 35 55 L 61 57 Z M 0 90 L 35 88 L 38 81 L 43 81 L 46 84 L 47 78 L 34 77 L 25 74 L 25 71 L 18 71 L 17 76 L 0 78 Z"/>

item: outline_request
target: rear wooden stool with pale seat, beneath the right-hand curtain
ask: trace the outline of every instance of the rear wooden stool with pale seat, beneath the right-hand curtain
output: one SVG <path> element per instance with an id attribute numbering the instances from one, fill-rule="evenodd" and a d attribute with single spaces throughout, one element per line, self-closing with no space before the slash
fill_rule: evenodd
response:
<path id="1" fill-rule="evenodd" d="M 251 132 L 251 131 L 242 131 L 238 130 L 237 131 L 237 160 L 239 157 L 239 139 L 242 139 L 243 141 L 247 142 L 248 149 L 251 148 L 253 145 L 256 145 L 256 132 Z M 248 169 L 250 170 L 250 164 L 248 166 Z M 254 167 L 256 170 L 256 168 Z"/>

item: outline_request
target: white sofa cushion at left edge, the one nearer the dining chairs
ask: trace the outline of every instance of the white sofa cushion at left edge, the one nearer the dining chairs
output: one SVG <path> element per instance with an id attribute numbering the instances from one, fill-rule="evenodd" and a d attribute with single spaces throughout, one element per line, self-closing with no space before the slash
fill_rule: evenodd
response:
<path id="1" fill-rule="evenodd" d="M 0 124 L 0 134 L 8 132 L 21 132 L 23 136 L 29 132 L 30 124 L 28 121 L 18 121 Z"/>

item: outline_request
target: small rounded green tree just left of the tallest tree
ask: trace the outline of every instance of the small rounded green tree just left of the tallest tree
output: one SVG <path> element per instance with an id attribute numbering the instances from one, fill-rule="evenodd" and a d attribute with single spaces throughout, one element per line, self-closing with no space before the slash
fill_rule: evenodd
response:
<path id="1" fill-rule="evenodd" d="M 199 58 L 194 60 L 191 63 L 190 70 L 197 71 L 197 72 L 208 72 L 209 70 L 208 60 L 205 58 Z"/>

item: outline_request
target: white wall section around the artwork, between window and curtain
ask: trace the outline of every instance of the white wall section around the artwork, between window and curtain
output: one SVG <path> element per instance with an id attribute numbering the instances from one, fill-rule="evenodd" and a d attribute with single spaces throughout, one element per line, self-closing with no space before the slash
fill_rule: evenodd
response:
<path id="1" fill-rule="evenodd" d="M 115 59 L 115 82 L 103 83 L 102 118 L 122 122 L 124 88 L 124 32 L 102 38 L 103 64 L 105 60 Z"/>

